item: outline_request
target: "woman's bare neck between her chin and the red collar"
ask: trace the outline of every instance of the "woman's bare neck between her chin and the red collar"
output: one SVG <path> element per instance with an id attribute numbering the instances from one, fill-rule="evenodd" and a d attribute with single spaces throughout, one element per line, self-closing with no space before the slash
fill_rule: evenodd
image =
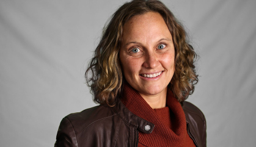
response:
<path id="1" fill-rule="evenodd" d="M 139 94 L 148 103 L 148 105 L 152 107 L 152 109 L 166 107 L 167 88 L 161 91 L 161 93 L 158 93 L 158 95 L 144 95 L 142 93 Z"/>

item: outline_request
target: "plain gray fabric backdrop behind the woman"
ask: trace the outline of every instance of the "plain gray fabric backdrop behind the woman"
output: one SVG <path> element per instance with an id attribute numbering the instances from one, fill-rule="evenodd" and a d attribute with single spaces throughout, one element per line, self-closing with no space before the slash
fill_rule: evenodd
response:
<path id="1" fill-rule="evenodd" d="M 95 106 L 84 71 L 115 1 L 0 1 L 0 146 L 53 146 L 65 115 Z M 208 146 L 256 144 L 256 1 L 165 0 L 200 74 L 188 101 Z"/>

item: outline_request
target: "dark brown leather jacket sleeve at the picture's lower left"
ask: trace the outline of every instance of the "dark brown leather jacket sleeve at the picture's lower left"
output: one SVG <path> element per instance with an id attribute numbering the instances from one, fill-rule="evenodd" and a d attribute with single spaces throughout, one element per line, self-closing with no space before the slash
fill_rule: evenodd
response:
<path id="1" fill-rule="evenodd" d="M 74 128 L 68 118 L 63 118 L 59 125 L 54 147 L 59 146 L 78 147 Z"/>

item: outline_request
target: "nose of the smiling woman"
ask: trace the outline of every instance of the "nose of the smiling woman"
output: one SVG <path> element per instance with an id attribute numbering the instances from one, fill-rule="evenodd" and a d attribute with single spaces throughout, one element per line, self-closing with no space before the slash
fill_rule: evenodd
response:
<path id="1" fill-rule="evenodd" d="M 145 61 L 143 63 L 143 66 L 145 68 L 155 68 L 159 64 L 160 62 L 158 60 L 156 52 L 147 52 L 147 54 L 145 54 Z"/>

